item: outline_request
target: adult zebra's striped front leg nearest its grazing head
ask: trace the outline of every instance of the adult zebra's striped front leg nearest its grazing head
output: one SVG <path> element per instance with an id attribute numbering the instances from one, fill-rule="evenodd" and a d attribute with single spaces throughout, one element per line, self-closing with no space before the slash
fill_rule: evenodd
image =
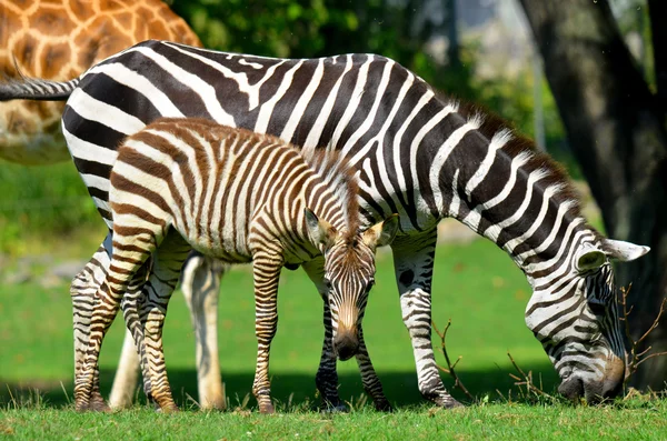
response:
<path id="1" fill-rule="evenodd" d="M 410 333 L 419 392 L 444 408 L 461 405 L 445 389 L 431 345 L 431 281 L 437 230 L 396 237 L 391 243 L 402 319 Z"/>

